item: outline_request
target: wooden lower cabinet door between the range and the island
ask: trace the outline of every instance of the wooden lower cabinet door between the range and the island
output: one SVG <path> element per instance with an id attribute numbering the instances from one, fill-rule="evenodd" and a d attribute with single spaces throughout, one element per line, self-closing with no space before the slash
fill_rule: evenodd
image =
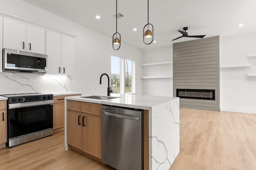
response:
<path id="1" fill-rule="evenodd" d="M 64 127 L 64 103 L 53 104 L 53 129 Z"/>

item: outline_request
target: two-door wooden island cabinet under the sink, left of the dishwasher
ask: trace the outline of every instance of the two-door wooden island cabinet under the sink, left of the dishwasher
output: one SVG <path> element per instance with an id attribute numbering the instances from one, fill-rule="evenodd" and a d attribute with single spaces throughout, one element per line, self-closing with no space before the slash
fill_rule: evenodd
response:
<path id="1" fill-rule="evenodd" d="M 101 105 L 68 100 L 67 109 L 68 144 L 101 159 Z"/>

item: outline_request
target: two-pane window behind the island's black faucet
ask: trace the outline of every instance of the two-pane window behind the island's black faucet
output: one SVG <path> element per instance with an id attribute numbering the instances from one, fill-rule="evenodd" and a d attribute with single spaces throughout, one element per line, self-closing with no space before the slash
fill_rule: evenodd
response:
<path id="1" fill-rule="evenodd" d="M 111 56 L 111 89 L 113 93 L 135 93 L 135 61 Z"/>

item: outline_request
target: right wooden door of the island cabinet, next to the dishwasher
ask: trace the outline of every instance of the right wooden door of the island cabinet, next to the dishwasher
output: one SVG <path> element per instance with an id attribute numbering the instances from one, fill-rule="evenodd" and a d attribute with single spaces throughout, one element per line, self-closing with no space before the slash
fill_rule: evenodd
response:
<path id="1" fill-rule="evenodd" d="M 83 151 L 101 159 L 101 117 L 83 114 Z"/>

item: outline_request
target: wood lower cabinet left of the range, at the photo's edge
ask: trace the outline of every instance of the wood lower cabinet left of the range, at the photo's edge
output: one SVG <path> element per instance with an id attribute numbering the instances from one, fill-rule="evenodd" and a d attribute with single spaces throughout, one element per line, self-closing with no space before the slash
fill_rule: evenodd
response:
<path id="1" fill-rule="evenodd" d="M 0 101 L 0 148 L 7 142 L 7 110 L 6 101 Z"/>

